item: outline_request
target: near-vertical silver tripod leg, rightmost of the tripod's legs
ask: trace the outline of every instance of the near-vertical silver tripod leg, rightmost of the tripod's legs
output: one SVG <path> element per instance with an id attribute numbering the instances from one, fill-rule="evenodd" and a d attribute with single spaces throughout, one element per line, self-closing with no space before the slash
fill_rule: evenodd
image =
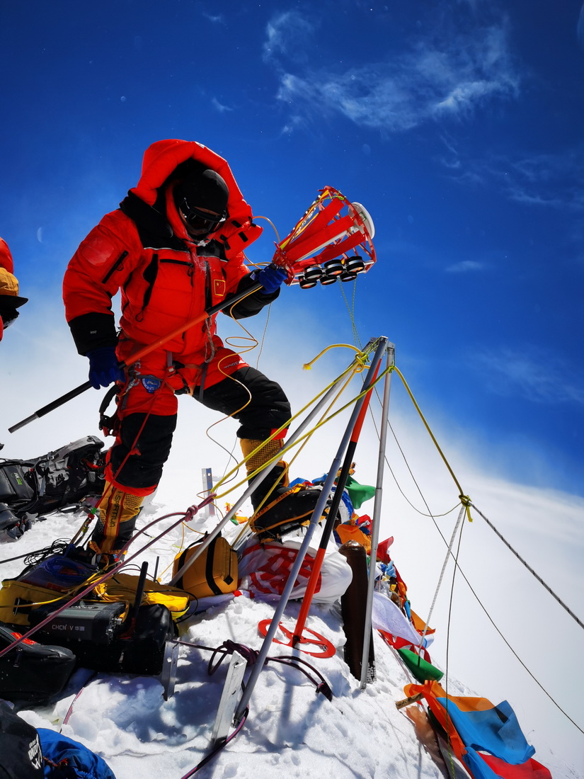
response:
<path id="1" fill-rule="evenodd" d="M 387 367 L 396 364 L 396 347 L 387 345 Z M 371 521 L 371 552 L 369 558 L 369 579 L 367 583 L 367 605 L 365 608 L 365 627 L 363 636 L 363 656 L 361 657 L 361 689 L 367 686 L 367 668 L 369 662 L 369 644 L 371 640 L 371 617 L 373 615 L 373 590 L 375 588 L 375 570 L 377 565 L 377 546 L 379 540 L 379 517 L 382 512 L 383 471 L 385 469 L 385 443 L 389 425 L 389 390 L 392 385 L 392 372 L 385 374 L 383 388 L 382 428 L 379 435 L 379 456 L 377 461 L 377 481 L 375 482 L 375 503 Z"/>

